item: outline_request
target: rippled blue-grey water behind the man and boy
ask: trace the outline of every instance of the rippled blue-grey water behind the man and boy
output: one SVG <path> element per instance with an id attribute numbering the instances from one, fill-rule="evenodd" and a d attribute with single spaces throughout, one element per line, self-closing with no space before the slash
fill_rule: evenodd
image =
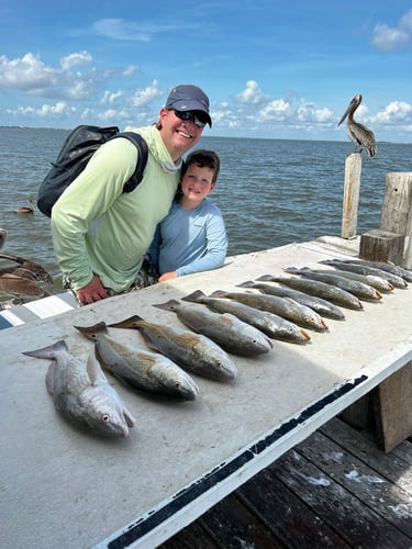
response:
<path id="1" fill-rule="evenodd" d="M 0 226 L 9 232 L 3 251 L 41 262 L 58 279 L 49 221 L 14 213 L 36 198 L 68 132 L 2 127 L 0 132 Z M 199 146 L 221 157 L 218 187 L 211 194 L 229 234 L 229 255 L 292 242 L 339 235 L 347 142 L 309 142 L 203 137 Z M 364 157 L 358 234 L 378 228 L 386 175 L 412 171 L 412 144 L 380 143 L 377 156 Z"/>

